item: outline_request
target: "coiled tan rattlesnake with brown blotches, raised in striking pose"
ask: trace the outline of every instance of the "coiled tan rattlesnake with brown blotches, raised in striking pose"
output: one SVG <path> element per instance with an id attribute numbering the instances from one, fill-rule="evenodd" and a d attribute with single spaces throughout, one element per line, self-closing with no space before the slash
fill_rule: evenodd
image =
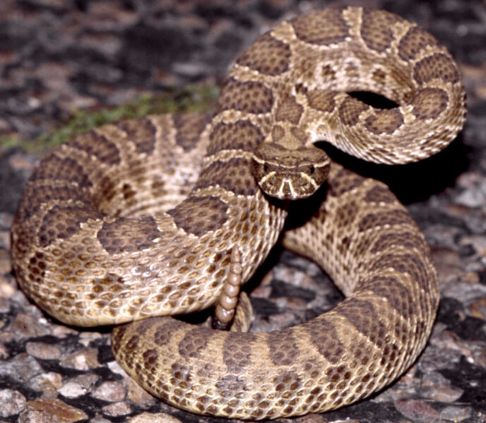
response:
<path id="1" fill-rule="evenodd" d="M 375 109 L 356 91 L 397 106 Z M 423 349 L 437 275 L 389 189 L 313 143 L 402 164 L 446 146 L 465 116 L 456 64 L 417 25 L 359 7 L 298 16 L 239 56 L 212 116 L 104 125 L 45 157 L 13 223 L 16 277 L 67 324 L 129 322 L 112 332 L 116 360 L 191 412 L 262 419 L 352 403 Z M 235 249 L 247 281 L 279 240 L 289 200 L 315 191 L 320 207 L 282 240 L 320 264 L 344 301 L 271 333 L 166 316 L 214 305 Z"/>

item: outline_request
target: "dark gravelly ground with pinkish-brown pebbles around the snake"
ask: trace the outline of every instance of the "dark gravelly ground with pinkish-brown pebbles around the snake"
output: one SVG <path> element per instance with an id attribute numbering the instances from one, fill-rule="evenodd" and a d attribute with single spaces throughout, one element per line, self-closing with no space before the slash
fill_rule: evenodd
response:
<path id="1" fill-rule="evenodd" d="M 383 168 L 335 154 L 387 181 L 407 204 L 432 247 L 442 300 L 425 352 L 399 381 L 356 405 L 294 420 L 486 422 L 486 3 L 467 0 L 1 0 L 0 136 L 23 142 L 0 144 L 0 422 L 222 421 L 152 398 L 114 361 L 109 329 L 60 324 L 18 290 L 9 228 L 39 158 L 23 147 L 75 109 L 217 85 L 260 32 L 336 4 L 399 13 L 449 47 L 466 83 L 468 122 L 420 164 Z M 259 277 L 256 330 L 309 319 L 341 298 L 315 264 L 289 252 L 274 252 Z"/>

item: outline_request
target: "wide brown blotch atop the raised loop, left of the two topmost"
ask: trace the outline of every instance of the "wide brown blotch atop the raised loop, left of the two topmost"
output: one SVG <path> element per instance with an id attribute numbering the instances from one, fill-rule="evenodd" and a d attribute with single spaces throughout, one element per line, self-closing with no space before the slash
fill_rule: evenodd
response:
<path id="1" fill-rule="evenodd" d="M 328 46 L 346 40 L 349 27 L 339 8 L 328 8 L 290 21 L 298 39 L 311 44 Z"/>

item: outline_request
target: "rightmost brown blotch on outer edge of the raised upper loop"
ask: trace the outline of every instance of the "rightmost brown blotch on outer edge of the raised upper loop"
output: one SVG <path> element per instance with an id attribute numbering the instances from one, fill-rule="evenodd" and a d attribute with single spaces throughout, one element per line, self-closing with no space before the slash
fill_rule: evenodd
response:
<path id="1" fill-rule="evenodd" d="M 422 59 L 413 68 L 413 78 L 422 85 L 435 78 L 444 82 L 457 82 L 459 73 L 447 54 L 434 54 Z"/>

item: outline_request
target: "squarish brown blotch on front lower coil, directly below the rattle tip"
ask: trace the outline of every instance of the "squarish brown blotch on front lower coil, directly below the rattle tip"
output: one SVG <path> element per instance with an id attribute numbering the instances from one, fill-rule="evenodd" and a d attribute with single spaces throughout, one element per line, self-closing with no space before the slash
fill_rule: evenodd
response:
<path id="1" fill-rule="evenodd" d="M 252 364 L 251 345 L 256 336 L 253 333 L 229 332 L 223 344 L 223 361 L 228 373 L 245 374 L 245 367 Z"/>

